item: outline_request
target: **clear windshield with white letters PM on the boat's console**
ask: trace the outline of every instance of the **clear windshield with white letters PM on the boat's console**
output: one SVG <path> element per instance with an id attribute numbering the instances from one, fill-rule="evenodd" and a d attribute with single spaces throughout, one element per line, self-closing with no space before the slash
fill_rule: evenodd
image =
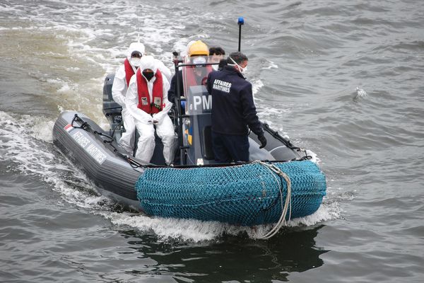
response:
<path id="1" fill-rule="evenodd" d="M 212 108 L 212 99 L 206 90 L 206 79 L 213 71 L 212 57 L 196 56 L 184 62 L 182 67 L 182 83 L 184 86 L 184 96 L 186 98 L 186 114 L 202 115 L 209 114 Z"/>

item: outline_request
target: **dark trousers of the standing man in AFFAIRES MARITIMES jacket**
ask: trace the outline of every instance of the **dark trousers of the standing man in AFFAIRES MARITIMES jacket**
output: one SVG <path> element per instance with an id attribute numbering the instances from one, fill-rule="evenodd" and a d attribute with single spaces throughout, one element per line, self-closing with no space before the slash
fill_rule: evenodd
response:
<path id="1" fill-rule="evenodd" d="M 215 160 L 220 163 L 249 161 L 247 135 L 219 134 L 212 131 L 212 147 Z"/>

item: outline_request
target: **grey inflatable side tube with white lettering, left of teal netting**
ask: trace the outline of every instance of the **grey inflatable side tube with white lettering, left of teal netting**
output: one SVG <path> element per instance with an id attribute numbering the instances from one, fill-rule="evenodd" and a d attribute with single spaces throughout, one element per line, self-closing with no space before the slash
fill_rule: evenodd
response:
<path id="1" fill-rule="evenodd" d="M 73 123 L 75 127 L 69 127 L 75 115 L 88 122 L 90 132 L 78 128 L 81 125 L 77 122 Z M 104 132 L 85 115 L 64 111 L 54 124 L 53 143 L 86 173 L 96 186 L 123 197 L 122 200 L 129 200 L 126 204 L 134 205 L 132 201 L 137 200 L 134 185 L 143 170 L 135 171 L 124 158 L 113 151 L 110 144 L 105 143 L 107 139 L 102 139 L 98 134 L 94 134 L 94 131 Z"/>

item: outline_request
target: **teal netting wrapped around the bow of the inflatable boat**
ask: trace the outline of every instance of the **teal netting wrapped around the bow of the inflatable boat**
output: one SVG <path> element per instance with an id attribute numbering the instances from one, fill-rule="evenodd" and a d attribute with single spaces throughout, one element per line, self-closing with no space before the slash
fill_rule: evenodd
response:
<path id="1" fill-rule="evenodd" d="M 273 165 L 290 178 L 291 218 L 317 211 L 326 194 L 325 176 L 317 165 L 311 161 Z M 136 182 L 136 191 L 141 209 L 148 215 L 252 226 L 280 219 L 287 183 L 260 163 L 146 168 Z"/>

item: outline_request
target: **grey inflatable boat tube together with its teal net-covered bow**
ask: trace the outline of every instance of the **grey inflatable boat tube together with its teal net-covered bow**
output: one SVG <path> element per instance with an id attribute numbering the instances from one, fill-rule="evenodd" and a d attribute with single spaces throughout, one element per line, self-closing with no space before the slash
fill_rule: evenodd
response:
<path id="1" fill-rule="evenodd" d="M 53 141 L 102 193 L 126 206 L 150 216 L 246 226 L 280 219 L 288 184 L 259 162 L 135 168 L 105 134 L 85 115 L 64 111 L 54 125 Z M 311 161 L 273 164 L 290 178 L 291 217 L 314 213 L 326 192 L 317 165 Z"/>

